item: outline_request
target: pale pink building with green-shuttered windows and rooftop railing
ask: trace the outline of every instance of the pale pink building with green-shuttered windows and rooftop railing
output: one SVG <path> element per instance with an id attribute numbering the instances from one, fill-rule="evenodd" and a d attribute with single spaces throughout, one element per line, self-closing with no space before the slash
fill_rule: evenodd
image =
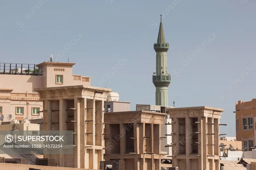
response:
<path id="1" fill-rule="evenodd" d="M 42 116 L 43 103 L 34 88 L 91 85 L 91 78 L 73 75 L 75 63 L 44 62 L 38 65 L 1 63 L 0 114 L 4 122 Z M 32 71 L 31 71 L 32 70 Z M 35 70 L 35 71 L 33 71 Z"/>

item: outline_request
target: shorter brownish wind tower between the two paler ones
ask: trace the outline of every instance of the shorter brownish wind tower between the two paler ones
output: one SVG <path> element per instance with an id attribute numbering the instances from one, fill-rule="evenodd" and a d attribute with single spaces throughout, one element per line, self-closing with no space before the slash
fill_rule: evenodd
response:
<path id="1" fill-rule="evenodd" d="M 105 113 L 104 159 L 120 159 L 127 170 L 160 170 L 161 124 L 165 116 L 148 111 Z"/>

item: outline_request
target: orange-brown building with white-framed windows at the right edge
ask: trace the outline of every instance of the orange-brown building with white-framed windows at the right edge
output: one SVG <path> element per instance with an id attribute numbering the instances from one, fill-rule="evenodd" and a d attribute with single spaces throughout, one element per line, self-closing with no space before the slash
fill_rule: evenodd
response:
<path id="1" fill-rule="evenodd" d="M 252 150 L 255 143 L 256 130 L 256 99 L 249 102 L 236 103 L 236 138 L 242 141 L 242 149 Z"/>

